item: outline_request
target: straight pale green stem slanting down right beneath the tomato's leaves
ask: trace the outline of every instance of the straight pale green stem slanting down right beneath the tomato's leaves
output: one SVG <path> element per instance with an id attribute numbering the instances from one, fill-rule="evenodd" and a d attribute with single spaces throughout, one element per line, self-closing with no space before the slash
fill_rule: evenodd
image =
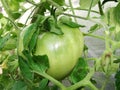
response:
<path id="1" fill-rule="evenodd" d="M 33 72 L 35 72 L 38 75 L 41 75 L 41 76 L 47 78 L 48 80 L 50 80 L 51 82 L 53 82 L 55 85 L 57 85 L 58 87 L 60 87 L 61 90 L 66 90 L 66 87 L 62 83 L 60 83 L 58 80 L 54 79 L 50 75 L 48 75 L 46 73 L 40 73 L 39 71 L 34 71 L 34 70 L 33 70 Z"/>

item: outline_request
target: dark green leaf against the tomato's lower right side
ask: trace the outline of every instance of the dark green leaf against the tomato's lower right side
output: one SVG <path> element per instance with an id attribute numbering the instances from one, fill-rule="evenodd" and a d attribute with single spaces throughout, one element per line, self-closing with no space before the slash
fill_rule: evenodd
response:
<path id="1" fill-rule="evenodd" d="M 77 83 L 85 78 L 85 76 L 88 74 L 88 71 L 89 69 L 87 62 L 83 58 L 80 58 L 77 65 L 70 74 L 69 79 L 72 83 Z"/>

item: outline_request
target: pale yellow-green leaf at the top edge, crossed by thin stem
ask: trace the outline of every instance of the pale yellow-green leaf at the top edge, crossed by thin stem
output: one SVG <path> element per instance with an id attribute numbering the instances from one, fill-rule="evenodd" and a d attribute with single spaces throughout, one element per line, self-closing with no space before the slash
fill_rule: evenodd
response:
<path id="1" fill-rule="evenodd" d="M 94 7 L 99 0 L 93 0 L 92 7 Z M 89 8 L 92 0 L 80 0 L 79 4 L 81 8 Z"/>

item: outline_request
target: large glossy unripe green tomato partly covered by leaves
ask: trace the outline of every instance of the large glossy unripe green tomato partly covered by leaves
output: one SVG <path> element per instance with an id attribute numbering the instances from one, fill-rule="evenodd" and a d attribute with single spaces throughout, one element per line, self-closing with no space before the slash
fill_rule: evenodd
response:
<path id="1" fill-rule="evenodd" d="M 66 77 L 81 57 L 84 47 L 84 38 L 79 28 L 71 28 L 59 23 L 63 35 L 44 32 L 38 36 L 34 55 L 47 55 L 49 68 L 47 73 L 55 79 Z M 21 32 L 21 36 L 24 36 Z M 19 54 L 23 50 L 22 39 L 19 40 Z"/>

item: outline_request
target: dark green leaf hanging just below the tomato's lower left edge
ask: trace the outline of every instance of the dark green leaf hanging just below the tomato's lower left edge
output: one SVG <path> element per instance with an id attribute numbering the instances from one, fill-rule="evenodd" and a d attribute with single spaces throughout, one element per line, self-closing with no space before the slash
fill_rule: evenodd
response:
<path id="1" fill-rule="evenodd" d="M 23 77 L 30 81 L 33 80 L 33 73 L 31 72 L 29 63 L 25 59 L 23 59 L 21 56 L 18 56 L 18 58 L 19 58 L 19 61 L 18 61 L 19 67 Z"/>

